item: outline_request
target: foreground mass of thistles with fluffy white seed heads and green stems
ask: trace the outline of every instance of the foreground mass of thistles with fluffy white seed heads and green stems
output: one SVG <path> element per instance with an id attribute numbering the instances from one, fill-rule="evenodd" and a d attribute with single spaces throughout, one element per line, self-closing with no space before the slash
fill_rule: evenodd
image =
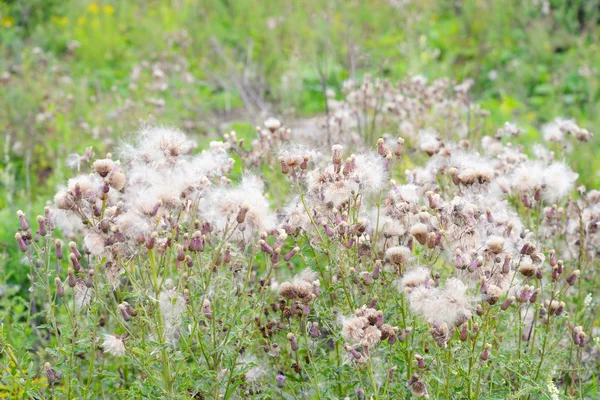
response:
<path id="1" fill-rule="evenodd" d="M 527 152 L 512 124 L 482 136 L 467 92 L 367 80 L 331 146 L 269 119 L 249 144 L 197 151 L 155 127 L 90 150 L 16 217 L 35 348 L 3 333 L 3 381 L 33 398 L 591 398 L 600 194 L 557 159 L 591 134 L 557 120 Z M 375 140 L 398 119 L 416 132 Z"/>

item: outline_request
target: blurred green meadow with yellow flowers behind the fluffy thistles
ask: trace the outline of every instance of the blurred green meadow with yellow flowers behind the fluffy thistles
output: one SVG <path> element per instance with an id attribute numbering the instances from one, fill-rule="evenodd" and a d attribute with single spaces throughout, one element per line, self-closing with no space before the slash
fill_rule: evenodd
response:
<path id="1" fill-rule="evenodd" d="M 23 282 L 14 216 L 144 123 L 210 138 L 324 112 L 365 73 L 474 79 L 474 101 L 539 140 L 555 117 L 595 132 L 597 0 L 27 0 L 0 3 L 0 268 Z M 575 157 L 595 186 L 597 141 Z"/>

